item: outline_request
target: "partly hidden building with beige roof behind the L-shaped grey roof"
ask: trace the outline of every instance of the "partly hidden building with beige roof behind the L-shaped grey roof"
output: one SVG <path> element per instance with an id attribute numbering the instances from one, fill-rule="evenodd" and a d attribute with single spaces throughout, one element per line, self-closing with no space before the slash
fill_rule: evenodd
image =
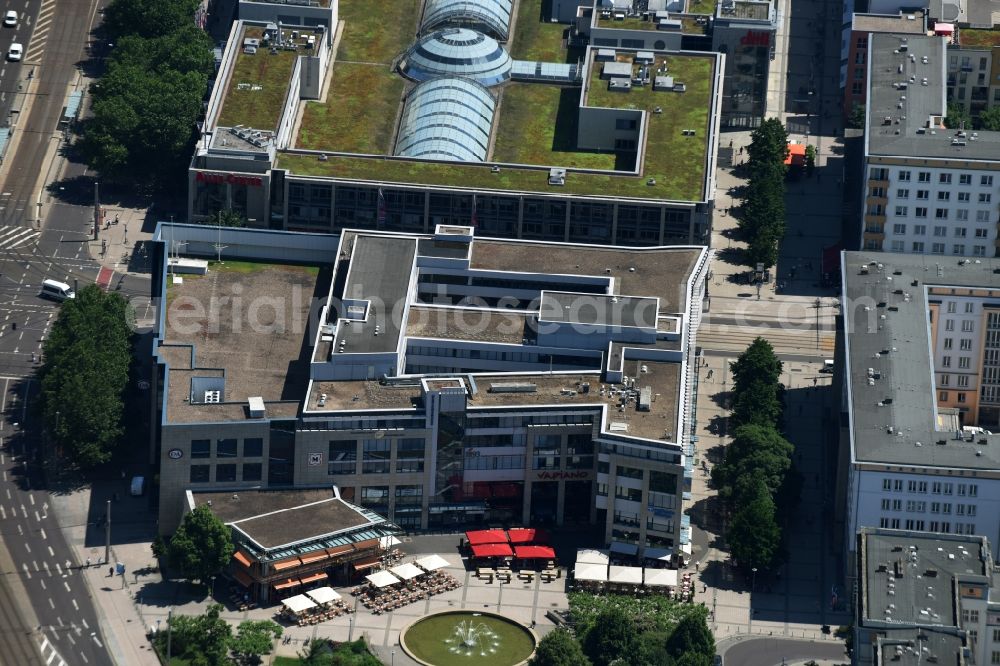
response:
<path id="1" fill-rule="evenodd" d="M 873 33 L 923 35 L 927 31 L 926 14 L 921 9 L 894 14 L 851 16 L 850 27 L 841 40 L 840 87 L 844 91 L 844 117 L 868 99 L 868 40 Z"/>

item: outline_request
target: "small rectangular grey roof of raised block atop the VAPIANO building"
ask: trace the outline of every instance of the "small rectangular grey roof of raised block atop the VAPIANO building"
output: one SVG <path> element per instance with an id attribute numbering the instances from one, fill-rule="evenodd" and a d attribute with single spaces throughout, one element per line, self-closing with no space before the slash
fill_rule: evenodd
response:
<path id="1" fill-rule="evenodd" d="M 656 328 L 655 298 L 546 291 L 539 319 L 584 325 Z"/>

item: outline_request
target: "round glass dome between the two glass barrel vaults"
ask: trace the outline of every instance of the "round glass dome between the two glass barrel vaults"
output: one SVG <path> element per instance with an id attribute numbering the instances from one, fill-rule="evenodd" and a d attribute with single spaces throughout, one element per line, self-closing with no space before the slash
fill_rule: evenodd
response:
<path id="1" fill-rule="evenodd" d="M 420 39 L 399 70 L 414 81 L 461 76 L 493 86 L 510 78 L 511 58 L 497 40 L 466 28 L 446 28 Z"/>

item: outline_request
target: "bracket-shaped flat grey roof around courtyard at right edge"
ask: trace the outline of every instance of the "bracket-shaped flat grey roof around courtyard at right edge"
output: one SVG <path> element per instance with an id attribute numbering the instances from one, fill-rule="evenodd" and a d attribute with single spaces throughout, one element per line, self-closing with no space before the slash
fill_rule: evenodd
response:
<path id="1" fill-rule="evenodd" d="M 956 440 L 954 432 L 937 430 L 927 288 L 1000 289 L 1000 260 L 960 260 L 844 253 L 843 314 L 855 461 L 951 469 L 1000 467 L 1000 435 L 979 435 L 975 442 L 967 442 Z M 869 368 L 877 375 L 871 384 Z M 983 437 L 987 444 L 979 445 Z"/>

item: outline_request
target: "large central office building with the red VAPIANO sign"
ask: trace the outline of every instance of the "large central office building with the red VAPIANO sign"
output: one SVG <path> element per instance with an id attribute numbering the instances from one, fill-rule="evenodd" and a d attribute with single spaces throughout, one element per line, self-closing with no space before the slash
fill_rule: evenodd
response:
<path id="1" fill-rule="evenodd" d="M 335 485 L 404 528 L 590 524 L 626 555 L 688 548 L 706 248 L 468 226 L 156 239 L 224 260 L 158 274 L 162 530 L 188 491 Z"/>

